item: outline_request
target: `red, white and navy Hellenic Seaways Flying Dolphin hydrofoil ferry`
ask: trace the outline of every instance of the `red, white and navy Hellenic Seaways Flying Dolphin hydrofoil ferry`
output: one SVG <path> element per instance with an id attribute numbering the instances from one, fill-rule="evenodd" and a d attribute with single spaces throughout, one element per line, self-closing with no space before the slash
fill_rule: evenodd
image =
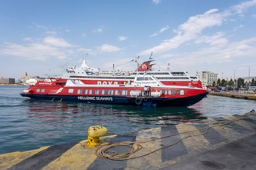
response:
<path id="1" fill-rule="evenodd" d="M 148 96 L 144 86 L 150 86 Z M 149 104 L 157 106 L 190 106 L 202 100 L 208 90 L 192 86 L 164 85 L 152 76 L 136 76 L 122 85 L 84 84 L 81 80 L 37 82 L 21 95 L 39 100 L 87 103 Z"/>

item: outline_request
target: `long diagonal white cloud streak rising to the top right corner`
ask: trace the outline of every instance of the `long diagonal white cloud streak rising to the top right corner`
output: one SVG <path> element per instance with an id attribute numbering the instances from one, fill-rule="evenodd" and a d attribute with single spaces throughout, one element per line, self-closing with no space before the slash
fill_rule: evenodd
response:
<path id="1" fill-rule="evenodd" d="M 228 10 L 224 11 L 223 13 L 217 13 L 217 9 L 212 9 L 202 15 L 190 17 L 186 23 L 180 25 L 178 29 L 174 31 L 175 33 L 177 33 L 176 37 L 169 40 L 163 40 L 160 45 L 152 47 L 148 50 L 144 50 L 138 55 L 147 55 L 151 52 L 154 52 L 154 54 L 156 54 L 166 52 L 171 49 L 176 49 L 182 43 L 189 42 L 193 39 L 196 40 L 202 33 L 202 30 L 214 26 L 221 26 L 223 21 L 227 21 L 228 17 L 235 14 L 241 14 L 243 11 L 246 11 L 248 7 L 255 5 L 256 0 L 253 0 L 250 2 L 243 2 L 237 6 L 233 6 Z M 222 39 L 222 41 L 223 40 L 224 39 Z"/>

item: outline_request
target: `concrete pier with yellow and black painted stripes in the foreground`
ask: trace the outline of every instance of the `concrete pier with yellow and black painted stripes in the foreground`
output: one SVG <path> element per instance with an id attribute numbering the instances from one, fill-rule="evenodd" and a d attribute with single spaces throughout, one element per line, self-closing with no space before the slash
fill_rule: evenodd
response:
<path id="1" fill-rule="evenodd" d="M 252 110 L 246 115 L 101 137 L 101 145 L 96 147 L 87 146 L 87 140 L 82 140 L 2 154 L 0 169 L 256 169 L 255 114 Z M 122 141 L 136 142 L 134 147 L 141 145 L 142 148 L 124 157 L 131 158 L 126 160 L 102 158 L 95 154 L 103 144 Z M 109 150 L 121 154 L 132 149 L 120 145 Z M 99 151 L 97 154 L 100 155 Z M 113 155 L 114 152 L 107 154 Z"/>

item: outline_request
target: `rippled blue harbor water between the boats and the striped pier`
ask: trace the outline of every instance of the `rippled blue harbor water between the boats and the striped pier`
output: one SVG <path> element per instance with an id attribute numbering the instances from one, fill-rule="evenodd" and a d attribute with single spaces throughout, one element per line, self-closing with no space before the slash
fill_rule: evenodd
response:
<path id="1" fill-rule="evenodd" d="M 256 110 L 255 100 L 209 94 L 190 107 L 138 107 L 33 100 L 26 88 L 0 86 L 0 154 L 85 140 L 93 125 L 114 135 Z"/>

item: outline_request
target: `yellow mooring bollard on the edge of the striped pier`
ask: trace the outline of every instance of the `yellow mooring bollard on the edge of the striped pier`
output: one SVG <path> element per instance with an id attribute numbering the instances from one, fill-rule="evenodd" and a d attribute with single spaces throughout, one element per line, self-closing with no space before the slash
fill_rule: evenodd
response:
<path id="1" fill-rule="evenodd" d="M 88 129 L 88 143 L 87 145 L 96 146 L 100 142 L 100 136 L 108 134 L 108 129 L 106 127 L 97 125 L 91 126 Z"/>

